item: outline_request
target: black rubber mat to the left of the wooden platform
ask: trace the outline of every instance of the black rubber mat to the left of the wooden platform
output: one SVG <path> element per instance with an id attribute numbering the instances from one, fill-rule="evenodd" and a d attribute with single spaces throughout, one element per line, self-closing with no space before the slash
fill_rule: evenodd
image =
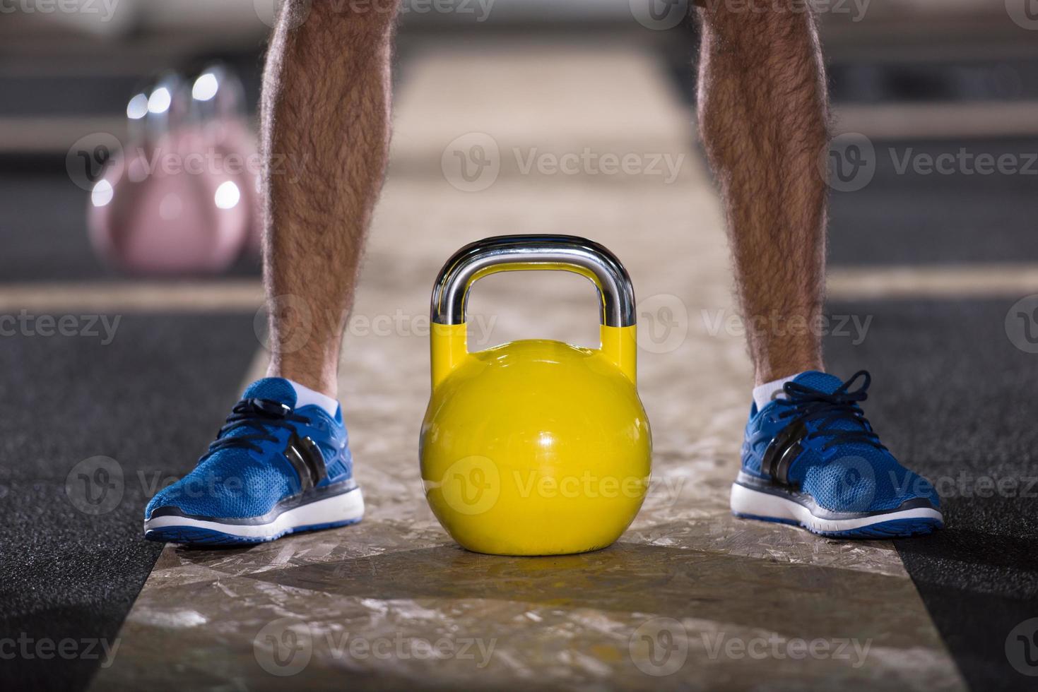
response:
<path id="1" fill-rule="evenodd" d="M 122 315 L 110 339 L 114 315 L 73 316 L 81 335 L 0 339 L 4 689 L 79 690 L 105 645 L 117 661 L 161 550 L 143 506 L 204 450 L 258 348 L 252 314 Z"/>

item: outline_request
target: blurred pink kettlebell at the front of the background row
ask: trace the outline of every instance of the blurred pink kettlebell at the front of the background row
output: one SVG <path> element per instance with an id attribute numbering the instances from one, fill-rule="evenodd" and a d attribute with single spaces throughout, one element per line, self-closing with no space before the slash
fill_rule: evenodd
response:
<path id="1" fill-rule="evenodd" d="M 127 106 L 128 146 L 90 194 L 98 254 L 131 274 L 222 272 L 241 253 L 251 216 L 236 177 L 189 124 L 191 95 L 166 73 Z"/>

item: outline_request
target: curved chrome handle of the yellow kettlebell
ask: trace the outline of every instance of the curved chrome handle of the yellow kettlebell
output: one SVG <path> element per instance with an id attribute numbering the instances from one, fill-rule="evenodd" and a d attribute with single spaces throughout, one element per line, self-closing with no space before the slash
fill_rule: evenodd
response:
<path id="1" fill-rule="evenodd" d="M 465 324 L 468 290 L 488 274 L 539 269 L 588 277 L 598 288 L 602 325 L 634 325 L 634 287 L 627 270 L 603 246 L 576 236 L 497 236 L 466 245 L 440 270 L 433 286 L 432 321 Z"/>

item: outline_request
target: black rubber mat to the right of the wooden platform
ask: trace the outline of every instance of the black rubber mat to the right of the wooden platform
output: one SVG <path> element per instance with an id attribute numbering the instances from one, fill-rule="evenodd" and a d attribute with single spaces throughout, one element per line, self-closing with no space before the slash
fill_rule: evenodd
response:
<path id="1" fill-rule="evenodd" d="M 1019 672 L 1038 673 L 1038 648 L 1014 632 L 1038 617 L 1038 354 L 1007 335 L 1015 300 L 828 306 L 872 319 L 857 345 L 827 337 L 828 369 L 872 371 L 869 418 L 941 494 L 947 528 L 896 545 L 975 690 L 1034 690 L 1038 680 Z"/>

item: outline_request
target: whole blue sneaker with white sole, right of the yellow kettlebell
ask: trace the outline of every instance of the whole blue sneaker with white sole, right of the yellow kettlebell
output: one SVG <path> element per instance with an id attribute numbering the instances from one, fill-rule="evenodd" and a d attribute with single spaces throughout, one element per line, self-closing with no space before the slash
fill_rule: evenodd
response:
<path id="1" fill-rule="evenodd" d="M 857 389 L 851 386 L 864 377 Z M 847 382 L 808 371 L 785 398 L 749 410 L 732 513 L 802 526 L 822 535 L 887 538 L 944 526 L 926 478 L 901 466 L 858 406 L 872 378 Z"/>

